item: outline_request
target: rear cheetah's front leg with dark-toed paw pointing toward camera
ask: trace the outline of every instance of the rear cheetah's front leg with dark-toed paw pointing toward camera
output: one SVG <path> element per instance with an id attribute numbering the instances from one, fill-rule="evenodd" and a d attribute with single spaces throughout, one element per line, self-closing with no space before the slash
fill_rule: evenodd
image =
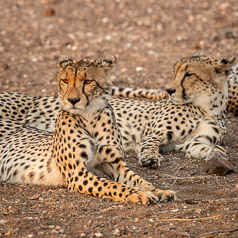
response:
<path id="1" fill-rule="evenodd" d="M 144 167 L 158 168 L 163 156 L 159 153 L 159 145 L 162 144 L 161 136 L 144 136 L 137 146 L 139 164 Z"/>

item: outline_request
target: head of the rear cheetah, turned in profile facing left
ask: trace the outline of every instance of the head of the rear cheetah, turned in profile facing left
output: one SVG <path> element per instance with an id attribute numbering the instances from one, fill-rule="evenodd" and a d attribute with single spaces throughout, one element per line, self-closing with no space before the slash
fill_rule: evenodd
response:
<path id="1" fill-rule="evenodd" d="M 226 100 L 226 79 L 234 61 L 234 57 L 216 60 L 201 54 L 181 59 L 176 63 L 173 79 L 167 85 L 170 100 L 176 104 L 192 103 L 200 107 L 216 104 L 216 100 Z"/>

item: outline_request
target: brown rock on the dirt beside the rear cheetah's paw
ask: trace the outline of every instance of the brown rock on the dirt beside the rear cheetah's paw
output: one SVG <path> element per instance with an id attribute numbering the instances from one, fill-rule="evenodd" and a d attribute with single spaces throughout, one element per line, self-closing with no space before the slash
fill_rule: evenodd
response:
<path id="1" fill-rule="evenodd" d="M 204 172 L 207 174 L 216 174 L 219 176 L 224 176 L 227 173 L 234 171 L 234 165 L 223 159 L 223 158 L 212 158 L 211 160 L 207 161 Z"/>

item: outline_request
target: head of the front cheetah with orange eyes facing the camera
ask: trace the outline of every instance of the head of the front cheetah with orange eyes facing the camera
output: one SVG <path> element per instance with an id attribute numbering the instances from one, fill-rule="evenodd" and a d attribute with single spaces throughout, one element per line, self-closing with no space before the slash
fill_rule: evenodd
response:
<path id="1" fill-rule="evenodd" d="M 109 73 L 116 63 L 113 55 L 99 60 L 58 60 L 57 82 L 63 110 L 74 114 L 93 114 L 103 109 L 111 97 Z"/>

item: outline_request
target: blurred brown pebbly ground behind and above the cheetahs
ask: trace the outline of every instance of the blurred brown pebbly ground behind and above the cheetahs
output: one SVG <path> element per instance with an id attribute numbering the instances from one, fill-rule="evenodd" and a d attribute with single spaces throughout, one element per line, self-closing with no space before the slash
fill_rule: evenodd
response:
<path id="1" fill-rule="evenodd" d="M 115 85 L 164 88 L 181 57 L 238 58 L 237 0 L 1 0 L 0 89 L 56 95 L 67 54 L 115 54 Z"/>

